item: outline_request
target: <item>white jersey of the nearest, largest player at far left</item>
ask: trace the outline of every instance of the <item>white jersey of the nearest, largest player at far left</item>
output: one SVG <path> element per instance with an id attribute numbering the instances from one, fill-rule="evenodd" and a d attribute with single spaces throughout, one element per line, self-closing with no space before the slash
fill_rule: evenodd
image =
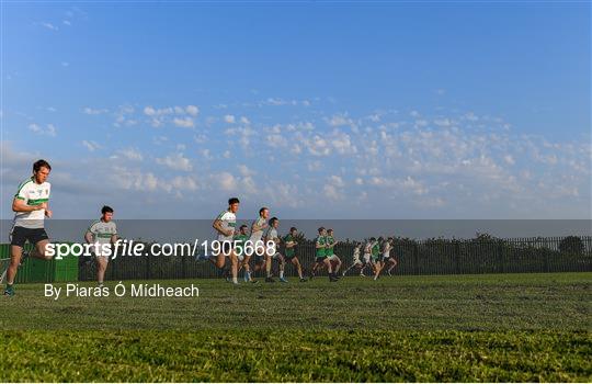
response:
<path id="1" fill-rule="evenodd" d="M 37 184 L 34 178 L 23 181 L 19 185 L 19 190 L 14 195 L 15 199 L 24 200 L 26 205 L 38 205 L 49 201 L 49 192 L 52 191 L 52 184 L 47 181 Z M 43 228 L 43 221 L 45 218 L 45 210 L 31 211 L 31 212 L 16 212 L 14 214 L 13 225 L 15 227 L 24 228 Z"/>

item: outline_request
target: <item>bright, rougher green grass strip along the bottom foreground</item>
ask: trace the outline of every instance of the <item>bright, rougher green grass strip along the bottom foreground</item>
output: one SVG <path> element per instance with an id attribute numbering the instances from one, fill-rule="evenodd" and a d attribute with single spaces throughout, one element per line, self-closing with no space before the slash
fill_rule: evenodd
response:
<path id="1" fill-rule="evenodd" d="M 585 331 L 2 331 L 9 382 L 590 382 Z"/>

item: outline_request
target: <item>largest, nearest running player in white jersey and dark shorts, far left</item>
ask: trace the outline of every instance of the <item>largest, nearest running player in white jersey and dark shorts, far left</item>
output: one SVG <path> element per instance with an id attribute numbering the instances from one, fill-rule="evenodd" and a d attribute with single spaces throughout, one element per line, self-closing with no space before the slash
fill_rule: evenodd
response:
<path id="1" fill-rule="evenodd" d="M 52 166 L 45 160 L 33 165 L 33 176 L 19 185 L 12 201 L 14 221 L 10 231 L 10 266 L 7 270 L 7 287 L 4 295 L 14 296 L 14 278 L 16 269 L 29 256 L 37 259 L 52 259 L 47 252 L 49 238 L 44 227 L 45 217 L 52 217 L 49 210 L 49 192 L 52 185 L 47 182 Z M 24 244 L 34 246 L 31 252 L 23 252 Z"/>

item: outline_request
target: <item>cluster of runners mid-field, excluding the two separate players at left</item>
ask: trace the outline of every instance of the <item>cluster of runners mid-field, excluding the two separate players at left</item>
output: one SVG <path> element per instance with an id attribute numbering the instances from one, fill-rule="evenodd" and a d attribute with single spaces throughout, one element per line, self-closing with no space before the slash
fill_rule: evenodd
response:
<path id="1" fill-rule="evenodd" d="M 228 200 L 228 208 L 216 217 L 212 226 L 216 230 L 217 241 L 221 247 L 217 247 L 217 252 L 212 257 L 206 256 L 216 268 L 224 271 L 225 278 L 235 284 L 238 284 L 241 270 L 244 270 L 244 282 L 257 283 L 252 272 L 263 270 L 265 271 L 265 282 L 275 282 L 272 275 L 274 262 L 277 264 L 280 282 L 283 283 L 287 283 L 284 274 L 287 263 L 293 264 L 296 269 L 300 282 L 315 278 L 322 269 L 327 269 L 331 282 L 337 282 L 352 269 L 356 269 L 361 276 L 366 276 L 364 271 L 368 268 L 376 280 L 385 269 L 388 275 L 391 275 L 392 270 L 397 267 L 397 259 L 390 255 L 394 239 L 372 237 L 365 242 L 355 244 L 352 264 L 339 273 L 342 261 L 334 252 L 338 244 L 334 230 L 320 227 L 315 239 L 315 262 L 309 268 L 308 276 L 305 276 L 296 253 L 298 229 L 291 227 L 284 237 L 280 237 L 277 233 L 280 219 L 277 217 L 269 218 L 270 208 L 267 207 L 259 210 L 259 217 L 252 222 L 250 227 L 241 225 L 236 229 L 236 213 L 239 206 L 239 199 L 231 197 Z M 283 251 L 281 251 L 282 246 Z M 254 263 L 251 271 L 250 261 L 252 258 L 254 258 Z"/>

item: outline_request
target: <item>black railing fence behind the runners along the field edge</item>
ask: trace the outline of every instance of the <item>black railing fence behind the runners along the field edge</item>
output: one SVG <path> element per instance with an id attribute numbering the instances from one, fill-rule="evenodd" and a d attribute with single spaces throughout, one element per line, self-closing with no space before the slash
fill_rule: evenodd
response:
<path id="1" fill-rule="evenodd" d="M 343 267 L 352 262 L 354 244 L 335 246 Z M 315 260 L 315 245 L 305 241 L 296 255 L 305 270 Z M 516 272 L 590 272 L 592 271 L 592 237 L 396 239 L 391 255 L 398 260 L 395 274 L 465 274 Z M 252 266 L 252 262 L 251 262 Z M 93 262 L 80 260 L 79 279 L 95 278 Z M 277 270 L 277 266 L 274 266 Z M 109 263 L 106 280 L 215 278 L 220 271 L 207 260 L 193 255 L 119 256 Z M 277 275 L 275 273 L 275 275 Z M 286 266 L 286 275 L 296 275 Z"/>

